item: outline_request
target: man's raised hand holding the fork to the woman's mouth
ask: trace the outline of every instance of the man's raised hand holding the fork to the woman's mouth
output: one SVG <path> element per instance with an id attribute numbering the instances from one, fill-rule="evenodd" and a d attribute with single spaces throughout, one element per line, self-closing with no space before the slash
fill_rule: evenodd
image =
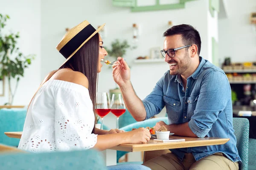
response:
<path id="1" fill-rule="evenodd" d="M 130 82 L 130 68 L 122 57 L 117 58 L 113 64 L 113 79 L 119 87 Z"/>

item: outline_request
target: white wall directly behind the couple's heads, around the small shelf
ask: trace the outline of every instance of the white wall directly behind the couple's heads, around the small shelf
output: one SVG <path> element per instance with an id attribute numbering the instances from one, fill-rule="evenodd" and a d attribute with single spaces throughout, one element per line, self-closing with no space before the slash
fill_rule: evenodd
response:
<path id="1" fill-rule="evenodd" d="M 163 63 L 155 64 L 134 64 L 133 60 L 142 55 L 150 55 L 150 48 L 163 48 L 163 32 L 168 28 L 168 21 L 172 20 L 175 25 L 187 23 L 195 26 L 201 33 L 202 52 L 201 55 L 207 58 L 207 15 L 206 2 L 198 0 L 186 3 L 185 9 L 130 12 L 129 8 L 113 7 L 111 0 L 44 0 L 42 1 L 42 77 L 49 71 L 58 68 L 64 61 L 64 57 L 55 49 L 66 27 L 73 27 L 82 20 L 88 20 L 94 27 L 106 23 L 107 37 L 104 45 L 118 38 L 132 41 L 132 24 L 137 23 L 141 27 L 139 46 L 136 50 L 128 51 L 124 56 L 131 65 L 131 81 L 139 97 L 144 98 L 160 79 L 168 65 Z M 89 6 L 90 8 L 87 8 Z M 86 8 L 86 10 L 85 10 Z M 193 16 L 193 17 L 190 17 Z M 201 18 L 198 20 L 198 18 Z M 145 79 L 142 79 L 145 78 Z M 99 91 L 108 91 L 114 88 L 111 69 L 107 66 L 99 74 Z"/>

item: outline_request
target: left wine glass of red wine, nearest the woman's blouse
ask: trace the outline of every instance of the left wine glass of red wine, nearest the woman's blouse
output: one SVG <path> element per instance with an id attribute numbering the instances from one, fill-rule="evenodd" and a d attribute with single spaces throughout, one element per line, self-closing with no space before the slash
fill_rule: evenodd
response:
<path id="1" fill-rule="evenodd" d="M 96 95 L 96 113 L 101 117 L 103 130 L 103 118 L 110 112 L 110 99 L 108 92 L 98 92 Z"/>

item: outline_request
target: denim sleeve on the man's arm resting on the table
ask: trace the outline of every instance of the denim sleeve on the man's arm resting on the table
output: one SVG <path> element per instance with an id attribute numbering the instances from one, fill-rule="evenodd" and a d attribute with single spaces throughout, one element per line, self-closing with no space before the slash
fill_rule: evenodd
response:
<path id="1" fill-rule="evenodd" d="M 208 73 L 201 85 L 198 102 L 189 128 L 196 136 L 203 138 L 209 133 L 218 114 L 231 102 L 231 88 L 227 76 L 221 71 Z"/>

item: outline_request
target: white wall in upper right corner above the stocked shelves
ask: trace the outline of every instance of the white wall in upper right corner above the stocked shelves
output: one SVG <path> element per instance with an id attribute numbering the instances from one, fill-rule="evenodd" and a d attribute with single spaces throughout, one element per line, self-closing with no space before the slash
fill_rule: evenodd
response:
<path id="1" fill-rule="evenodd" d="M 250 14 L 256 12 L 256 0 L 226 0 L 228 17 L 218 21 L 219 56 L 231 57 L 232 62 L 256 61 L 256 25 Z"/>

